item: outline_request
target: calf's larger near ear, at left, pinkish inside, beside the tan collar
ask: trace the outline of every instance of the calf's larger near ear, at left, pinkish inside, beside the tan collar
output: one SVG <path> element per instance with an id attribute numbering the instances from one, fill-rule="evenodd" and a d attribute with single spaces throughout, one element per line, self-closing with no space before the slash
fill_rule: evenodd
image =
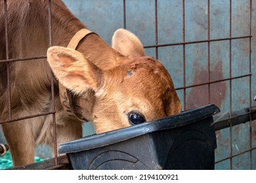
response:
<path id="1" fill-rule="evenodd" d="M 47 61 L 59 82 L 74 93 L 97 91 L 102 84 L 102 70 L 74 49 L 52 46 Z"/>

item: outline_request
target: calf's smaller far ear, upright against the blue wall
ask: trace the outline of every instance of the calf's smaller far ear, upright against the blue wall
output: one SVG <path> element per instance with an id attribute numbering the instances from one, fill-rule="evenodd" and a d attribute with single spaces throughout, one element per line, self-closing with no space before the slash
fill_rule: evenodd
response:
<path id="1" fill-rule="evenodd" d="M 112 48 L 129 58 L 145 56 L 139 38 L 126 29 L 117 29 L 112 37 Z"/>

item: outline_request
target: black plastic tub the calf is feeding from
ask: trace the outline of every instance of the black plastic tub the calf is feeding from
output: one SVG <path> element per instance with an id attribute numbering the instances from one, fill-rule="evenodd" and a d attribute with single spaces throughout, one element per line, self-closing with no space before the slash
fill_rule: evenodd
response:
<path id="1" fill-rule="evenodd" d="M 60 144 L 74 169 L 214 169 L 215 105 Z"/>

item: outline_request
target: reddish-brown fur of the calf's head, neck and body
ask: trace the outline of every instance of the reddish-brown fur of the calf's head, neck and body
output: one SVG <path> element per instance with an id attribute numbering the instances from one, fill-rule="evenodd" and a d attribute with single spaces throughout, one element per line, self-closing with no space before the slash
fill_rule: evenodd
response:
<path id="1" fill-rule="evenodd" d="M 9 58 L 45 55 L 49 48 L 48 1 L 7 3 Z M 0 8 L 0 48 L 3 51 L 0 59 L 6 59 L 3 54 L 6 50 L 3 1 L 0 1 Z M 133 57 L 136 50 L 141 53 L 140 45 L 136 49 L 123 49 L 138 43 L 125 44 L 126 41 L 119 41 L 123 36 L 114 38 L 114 44 L 119 42 L 117 52 L 100 37 L 91 34 L 81 41 L 77 51 L 62 47 L 67 46 L 85 25 L 58 0 L 52 1 L 52 24 L 53 45 L 58 46 L 49 48 L 49 63 L 45 59 L 10 63 L 12 118 L 53 110 L 51 69 L 58 81 L 74 93 L 75 112 L 93 121 L 97 133 L 129 126 L 127 112 L 131 110 L 139 110 L 147 121 L 180 112 L 181 103 L 171 76 L 160 61 L 144 56 L 123 56 Z M 121 31 L 129 40 L 135 37 L 123 29 Z M 6 68 L 5 63 L 0 63 L 1 121 L 9 119 Z M 82 131 L 81 122 L 70 119 L 63 111 L 58 97 L 58 81 L 54 82 L 54 101 L 57 142 L 60 144 L 81 137 Z M 36 144 L 53 146 L 52 120 L 52 115 L 47 115 L 3 124 L 14 165 L 32 163 Z"/>

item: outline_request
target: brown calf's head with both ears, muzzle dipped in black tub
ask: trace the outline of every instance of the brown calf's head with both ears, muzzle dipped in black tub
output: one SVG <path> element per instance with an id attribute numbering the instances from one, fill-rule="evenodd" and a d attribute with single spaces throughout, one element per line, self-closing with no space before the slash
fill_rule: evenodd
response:
<path id="1" fill-rule="evenodd" d="M 47 52 L 54 75 L 79 98 L 81 114 L 95 124 L 96 132 L 180 112 L 171 76 L 160 61 L 144 56 L 139 39 L 121 29 L 112 42 L 125 56 L 113 60 L 116 66 L 107 70 L 70 48 L 53 46 Z"/>

